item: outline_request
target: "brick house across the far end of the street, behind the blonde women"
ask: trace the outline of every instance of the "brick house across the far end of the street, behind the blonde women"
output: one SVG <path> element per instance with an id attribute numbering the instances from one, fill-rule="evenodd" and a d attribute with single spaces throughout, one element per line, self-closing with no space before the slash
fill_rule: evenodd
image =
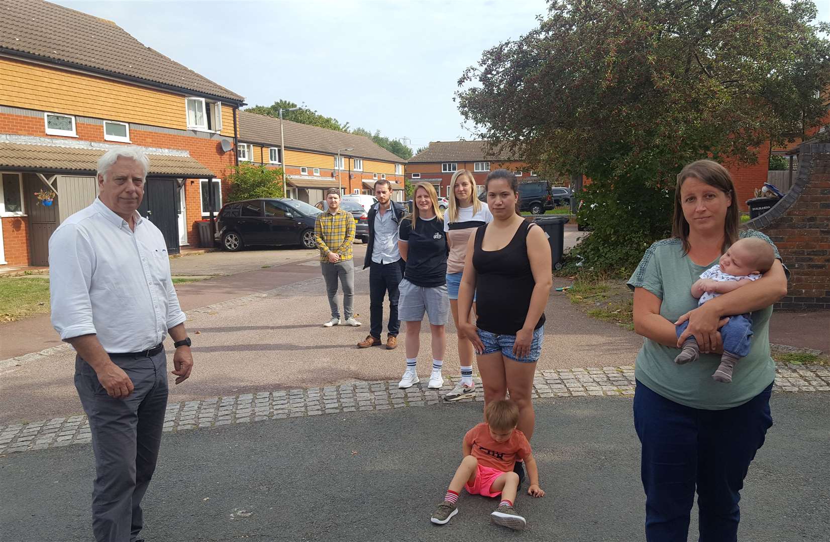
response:
<path id="1" fill-rule="evenodd" d="M 460 169 L 473 172 L 479 191 L 483 190 L 487 174 L 496 169 L 515 172 L 520 181 L 538 180 L 525 162 L 517 160 L 505 148 L 490 148 L 486 141 L 432 141 L 429 147 L 407 161 L 409 181 L 431 182 L 438 196 L 449 196 L 452 174 Z"/>

